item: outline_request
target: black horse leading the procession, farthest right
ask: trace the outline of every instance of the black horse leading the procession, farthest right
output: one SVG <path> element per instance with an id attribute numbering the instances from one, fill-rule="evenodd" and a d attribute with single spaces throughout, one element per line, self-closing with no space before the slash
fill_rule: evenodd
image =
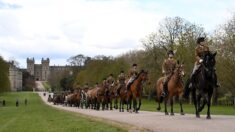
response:
<path id="1" fill-rule="evenodd" d="M 210 115 L 210 105 L 211 105 L 211 97 L 213 94 L 214 88 L 214 76 L 215 76 L 215 56 L 216 52 L 212 53 L 210 51 L 206 51 L 203 54 L 203 62 L 199 67 L 197 74 L 195 75 L 195 79 L 191 82 L 192 87 L 192 97 L 196 110 L 196 117 L 200 118 L 200 112 L 204 109 L 205 104 L 207 103 L 207 119 L 211 119 Z M 189 85 L 186 87 L 186 91 L 190 92 Z M 185 93 L 185 95 L 189 95 L 189 93 Z M 203 99 L 203 104 L 201 105 L 201 98 Z"/>

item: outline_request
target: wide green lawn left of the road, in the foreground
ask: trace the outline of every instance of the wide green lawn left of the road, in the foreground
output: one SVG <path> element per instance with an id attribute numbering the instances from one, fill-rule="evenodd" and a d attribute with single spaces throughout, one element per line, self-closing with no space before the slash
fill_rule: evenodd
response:
<path id="1" fill-rule="evenodd" d="M 15 106 L 15 100 L 20 106 Z M 24 99 L 28 105 L 24 105 Z M 45 105 L 37 93 L 12 92 L 0 94 L 0 100 L 6 100 L 6 106 L 0 106 L 1 132 L 114 132 L 126 131 L 117 125 L 106 124 L 76 113 L 66 112 Z"/>

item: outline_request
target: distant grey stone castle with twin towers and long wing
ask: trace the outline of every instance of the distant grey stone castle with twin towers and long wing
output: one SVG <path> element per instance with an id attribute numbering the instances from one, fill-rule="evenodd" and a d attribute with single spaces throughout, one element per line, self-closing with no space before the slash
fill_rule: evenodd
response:
<path id="1" fill-rule="evenodd" d="M 35 81 L 48 81 L 50 74 L 70 71 L 71 66 L 50 66 L 50 59 L 42 58 L 41 64 L 35 64 L 34 58 L 27 58 L 27 71 L 34 76 Z"/>

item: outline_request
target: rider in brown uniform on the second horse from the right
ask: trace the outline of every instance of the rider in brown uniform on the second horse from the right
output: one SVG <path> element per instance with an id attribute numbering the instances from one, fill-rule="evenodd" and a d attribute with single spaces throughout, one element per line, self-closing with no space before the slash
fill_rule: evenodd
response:
<path id="1" fill-rule="evenodd" d="M 161 94 L 162 97 L 166 97 L 168 95 L 168 81 L 170 80 L 171 76 L 173 75 L 174 69 L 176 67 L 176 60 L 174 57 L 174 52 L 169 50 L 167 52 L 168 58 L 164 60 L 162 64 L 162 73 L 164 75 L 163 80 L 163 92 Z"/>

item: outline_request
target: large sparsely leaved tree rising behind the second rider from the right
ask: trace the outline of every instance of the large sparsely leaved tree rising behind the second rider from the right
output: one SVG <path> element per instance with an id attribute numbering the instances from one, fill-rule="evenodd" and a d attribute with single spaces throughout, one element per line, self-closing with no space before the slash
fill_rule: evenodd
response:
<path id="1" fill-rule="evenodd" d="M 149 91 L 154 90 L 155 82 L 162 76 L 161 66 L 167 57 L 167 50 L 177 51 L 175 58 L 184 61 L 186 73 L 191 73 L 196 39 L 199 36 L 206 36 L 203 27 L 180 17 L 167 17 L 159 23 L 157 32 L 142 40 L 145 54 L 140 63 L 149 70 L 149 79 L 153 82 Z"/>

